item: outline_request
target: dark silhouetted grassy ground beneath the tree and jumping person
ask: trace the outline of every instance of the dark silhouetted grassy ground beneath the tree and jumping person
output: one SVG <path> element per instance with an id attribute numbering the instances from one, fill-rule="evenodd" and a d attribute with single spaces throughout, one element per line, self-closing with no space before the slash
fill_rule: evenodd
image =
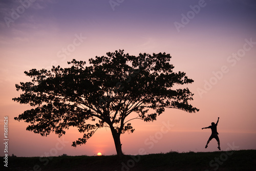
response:
<path id="1" fill-rule="evenodd" d="M 3 168 L 3 162 L 1 168 Z M 211 153 L 150 154 L 142 156 L 9 157 L 1 170 L 253 170 L 256 150 Z"/>

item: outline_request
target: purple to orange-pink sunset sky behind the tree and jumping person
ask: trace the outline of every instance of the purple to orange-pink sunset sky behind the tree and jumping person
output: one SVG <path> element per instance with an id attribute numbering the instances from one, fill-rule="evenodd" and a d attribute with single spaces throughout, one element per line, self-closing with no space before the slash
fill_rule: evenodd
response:
<path id="1" fill-rule="evenodd" d="M 200 1 L 67 1 L 0 2 L 0 135 L 8 117 L 8 155 L 94 156 L 116 154 L 111 131 L 97 130 L 86 144 L 72 147 L 82 135 L 71 127 L 58 138 L 26 131 L 14 117 L 31 106 L 14 102 L 15 84 L 31 81 L 30 69 L 68 67 L 123 49 L 130 55 L 165 52 L 175 71 L 193 79 L 197 113 L 167 109 L 154 122 L 134 120 L 135 132 L 121 135 L 126 155 L 218 151 L 217 141 L 204 148 L 211 134 L 201 130 L 220 117 L 223 151 L 256 149 L 256 2 Z M 5 145 L 1 143 L 0 156 Z"/>

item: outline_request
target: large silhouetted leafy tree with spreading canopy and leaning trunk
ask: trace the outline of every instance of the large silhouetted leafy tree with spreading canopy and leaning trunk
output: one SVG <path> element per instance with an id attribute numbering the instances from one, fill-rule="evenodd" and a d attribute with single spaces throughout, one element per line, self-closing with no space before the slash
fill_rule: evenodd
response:
<path id="1" fill-rule="evenodd" d="M 69 126 L 76 126 L 83 137 L 72 146 L 86 143 L 97 129 L 109 127 L 117 155 L 122 157 L 120 135 L 134 132 L 127 116 L 148 122 L 165 108 L 199 111 L 188 103 L 194 95 L 188 88 L 173 88 L 193 80 L 184 72 L 173 72 L 169 54 L 133 56 L 119 50 L 106 55 L 89 59 L 90 66 L 73 59 L 68 62 L 70 68 L 25 71 L 32 81 L 16 84 L 17 91 L 24 93 L 13 100 L 35 108 L 14 119 L 31 123 L 27 130 L 42 136 L 55 132 L 60 137 Z"/>

